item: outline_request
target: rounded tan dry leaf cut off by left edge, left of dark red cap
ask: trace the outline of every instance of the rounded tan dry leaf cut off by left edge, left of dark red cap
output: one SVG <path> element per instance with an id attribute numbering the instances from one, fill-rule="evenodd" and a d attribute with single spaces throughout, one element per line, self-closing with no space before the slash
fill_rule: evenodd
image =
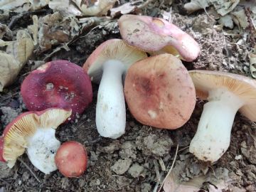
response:
<path id="1" fill-rule="evenodd" d="M 0 92 L 16 79 L 20 65 L 13 55 L 0 52 Z"/>

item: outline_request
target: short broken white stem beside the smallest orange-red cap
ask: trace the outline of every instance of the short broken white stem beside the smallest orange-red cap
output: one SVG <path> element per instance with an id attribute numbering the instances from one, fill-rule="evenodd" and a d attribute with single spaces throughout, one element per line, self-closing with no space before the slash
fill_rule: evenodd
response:
<path id="1" fill-rule="evenodd" d="M 28 159 L 44 174 L 50 174 L 57 169 L 55 154 L 60 142 L 55 138 L 55 129 L 42 128 L 28 138 Z"/>

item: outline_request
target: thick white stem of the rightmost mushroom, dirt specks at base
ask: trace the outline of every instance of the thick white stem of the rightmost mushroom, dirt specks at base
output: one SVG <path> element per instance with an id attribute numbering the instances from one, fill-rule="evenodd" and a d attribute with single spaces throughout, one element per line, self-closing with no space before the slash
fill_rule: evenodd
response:
<path id="1" fill-rule="evenodd" d="M 208 101 L 189 151 L 198 159 L 214 162 L 228 149 L 235 114 L 244 102 L 223 88 L 211 90 Z"/>

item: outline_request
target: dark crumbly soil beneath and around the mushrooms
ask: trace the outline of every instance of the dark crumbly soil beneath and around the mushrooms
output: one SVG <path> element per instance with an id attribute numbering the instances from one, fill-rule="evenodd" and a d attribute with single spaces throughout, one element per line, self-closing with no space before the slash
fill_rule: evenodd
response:
<path id="1" fill-rule="evenodd" d="M 123 4 L 124 1 L 120 3 Z M 239 38 L 225 36 L 224 31 L 227 29 L 218 27 L 212 16 L 207 16 L 204 11 L 187 15 L 184 13 L 183 4 L 183 1 L 174 1 L 171 5 L 173 23 L 191 34 L 202 50 L 197 60 L 192 63 L 183 62 L 186 68 L 221 70 L 250 76 L 247 57 L 247 53 L 252 49 L 250 39 L 235 43 Z M 45 9 L 49 10 L 47 7 Z M 169 10 L 168 1 L 152 1 L 142 9 L 142 14 L 161 17 L 163 11 Z M 85 31 L 78 41 L 70 44 L 69 51 L 60 50 L 48 60 L 65 59 L 82 66 L 100 43 L 110 38 L 121 38 L 117 18 L 106 25 Z M 10 19 L 4 23 L 8 24 Z M 31 18 L 27 16 L 19 20 L 14 30 L 32 24 Z M 31 60 L 43 60 L 53 48 L 34 54 Z M 20 95 L 20 87 L 33 68 L 32 64 L 25 65 L 16 82 L 0 93 L 0 132 L 18 114 L 27 111 Z M 186 163 L 185 169 L 178 173 L 178 179 L 181 181 L 213 174 L 215 178 L 231 179 L 230 188 L 223 191 L 256 191 L 256 125 L 239 112 L 235 116 L 228 151 L 215 164 L 209 165 L 198 161 L 188 152 L 205 102 L 198 100 L 191 119 L 176 130 L 156 129 L 140 124 L 127 109 L 125 134 L 119 139 L 107 139 L 99 136 L 95 125 L 97 89 L 98 85 L 93 85 L 93 101 L 80 118 L 61 125 L 56 133 L 60 142 L 75 140 L 86 146 L 89 161 L 85 174 L 80 178 L 65 178 L 59 171 L 45 175 L 31 164 L 26 154 L 23 154 L 21 161 L 17 161 L 12 169 L 0 162 L 1 192 L 153 191 L 160 176 L 165 176 L 169 171 L 177 145 L 179 150 L 175 165 Z M 36 174 L 40 182 L 22 161 Z M 207 182 L 213 183 L 213 180 Z M 205 189 L 208 190 L 207 186 Z"/>

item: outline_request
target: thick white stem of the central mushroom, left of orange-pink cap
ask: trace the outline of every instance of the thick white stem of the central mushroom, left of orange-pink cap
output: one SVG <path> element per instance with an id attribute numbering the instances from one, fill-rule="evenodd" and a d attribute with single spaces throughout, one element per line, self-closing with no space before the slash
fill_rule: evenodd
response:
<path id="1" fill-rule="evenodd" d="M 125 68 L 119 60 L 108 60 L 97 95 L 96 126 L 102 137 L 116 139 L 124 134 L 126 114 L 122 73 Z"/>

